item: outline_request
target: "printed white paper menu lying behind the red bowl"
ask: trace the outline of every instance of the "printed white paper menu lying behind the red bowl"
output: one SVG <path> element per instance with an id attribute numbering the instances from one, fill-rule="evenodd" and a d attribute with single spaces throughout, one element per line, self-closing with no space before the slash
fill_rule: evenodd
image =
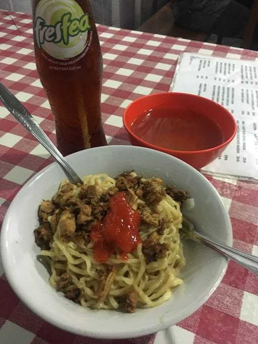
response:
<path id="1" fill-rule="evenodd" d="M 212 99 L 237 121 L 237 134 L 203 172 L 258 179 L 258 62 L 183 53 L 170 88 Z"/>

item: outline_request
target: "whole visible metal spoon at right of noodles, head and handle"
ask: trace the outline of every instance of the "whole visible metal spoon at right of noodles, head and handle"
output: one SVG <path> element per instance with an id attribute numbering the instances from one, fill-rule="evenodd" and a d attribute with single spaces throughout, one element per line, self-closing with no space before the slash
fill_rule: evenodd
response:
<path id="1" fill-rule="evenodd" d="M 201 242 L 202 244 L 213 248 L 215 251 L 221 253 L 225 257 L 234 260 L 238 264 L 244 266 L 246 269 L 258 274 L 258 257 L 229 247 L 227 245 L 223 245 L 216 240 L 208 238 L 206 235 L 196 231 L 193 227 L 193 224 L 185 218 L 183 218 L 182 233 L 184 235 L 184 239 L 191 239 L 197 242 Z"/>

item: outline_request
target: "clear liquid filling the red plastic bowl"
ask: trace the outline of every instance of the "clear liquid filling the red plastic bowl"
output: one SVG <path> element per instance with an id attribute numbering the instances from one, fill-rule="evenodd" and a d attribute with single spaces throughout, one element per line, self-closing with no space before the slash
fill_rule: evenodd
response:
<path id="1" fill-rule="evenodd" d="M 133 122 L 132 131 L 152 145 L 177 151 L 202 151 L 224 142 L 214 120 L 181 107 L 145 111 Z"/>

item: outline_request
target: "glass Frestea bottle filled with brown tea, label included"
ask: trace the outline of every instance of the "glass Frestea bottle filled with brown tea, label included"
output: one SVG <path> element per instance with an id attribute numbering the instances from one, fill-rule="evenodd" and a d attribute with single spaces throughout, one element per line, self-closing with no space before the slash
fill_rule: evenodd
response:
<path id="1" fill-rule="evenodd" d="M 33 0 L 35 58 L 63 155 L 104 146 L 102 54 L 89 0 Z"/>

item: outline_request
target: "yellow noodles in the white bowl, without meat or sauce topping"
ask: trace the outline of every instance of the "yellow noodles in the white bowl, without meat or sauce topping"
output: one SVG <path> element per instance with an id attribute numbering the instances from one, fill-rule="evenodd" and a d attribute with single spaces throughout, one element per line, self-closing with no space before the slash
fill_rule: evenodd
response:
<path id="1" fill-rule="evenodd" d="M 137 176 L 135 172 L 131 172 L 131 175 Z M 66 181 L 61 185 L 63 183 Z M 104 193 L 115 186 L 115 180 L 106 174 L 89 175 L 84 178 L 84 185 L 96 185 L 98 192 Z M 74 195 L 78 195 L 79 191 L 80 186 L 75 186 Z M 144 201 L 134 193 L 132 207 L 137 210 L 140 203 Z M 60 239 L 56 230 L 53 241 L 50 243 L 50 250 L 41 251 L 41 255 L 48 256 L 51 260 L 50 285 L 58 290 L 57 283 L 60 281 L 60 274 L 69 273 L 73 284 L 81 291 L 79 303 L 83 307 L 92 309 L 118 309 L 119 297 L 130 290 L 137 292 L 137 307 L 141 308 L 154 307 L 170 299 L 171 289 L 183 283 L 177 277 L 185 263 L 179 237 L 182 213 L 180 204 L 168 194 L 158 203 L 157 211 L 165 226 L 163 234 L 159 236 L 159 242 L 169 245 L 164 258 L 147 264 L 142 244 L 139 244 L 137 250 L 128 254 L 126 261 L 121 260 L 118 255 L 112 255 L 106 263 L 99 263 L 93 257 L 92 241 L 88 245 L 72 241 L 65 242 Z M 51 221 L 51 216 L 48 221 Z M 157 227 L 147 226 L 142 222 L 140 236 L 143 242 L 156 230 Z M 105 271 L 107 265 L 115 266 L 116 269 L 109 292 L 102 300 L 99 299 L 97 291 L 100 284 L 100 271 Z M 68 290 L 69 288 L 72 287 L 69 286 Z"/>

